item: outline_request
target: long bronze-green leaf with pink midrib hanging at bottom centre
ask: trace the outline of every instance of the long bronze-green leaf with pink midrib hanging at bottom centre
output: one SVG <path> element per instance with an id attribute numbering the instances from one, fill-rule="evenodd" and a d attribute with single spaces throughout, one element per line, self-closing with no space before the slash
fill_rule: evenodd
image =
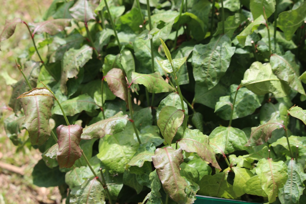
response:
<path id="1" fill-rule="evenodd" d="M 172 200 L 184 203 L 188 184 L 180 175 L 180 164 L 183 162 L 182 150 L 174 150 L 172 147 L 158 148 L 155 155 L 152 156 L 152 160 L 166 194 Z"/>

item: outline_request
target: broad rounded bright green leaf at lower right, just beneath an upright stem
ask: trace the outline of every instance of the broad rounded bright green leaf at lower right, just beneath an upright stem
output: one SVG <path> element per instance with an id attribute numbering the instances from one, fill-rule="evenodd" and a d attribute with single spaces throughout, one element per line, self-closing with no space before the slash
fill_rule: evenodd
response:
<path id="1" fill-rule="evenodd" d="M 246 150 L 245 133 L 233 127 L 217 127 L 209 135 L 209 144 L 215 153 L 229 154 L 237 150 Z"/>

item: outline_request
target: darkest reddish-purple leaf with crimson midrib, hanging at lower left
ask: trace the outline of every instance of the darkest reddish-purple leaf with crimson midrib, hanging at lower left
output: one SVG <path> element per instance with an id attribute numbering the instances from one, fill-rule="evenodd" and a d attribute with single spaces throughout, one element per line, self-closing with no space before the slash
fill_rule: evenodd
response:
<path id="1" fill-rule="evenodd" d="M 56 128 L 58 134 L 58 164 L 61 168 L 72 167 L 82 155 L 79 147 L 83 128 L 80 125 L 60 125 Z"/>

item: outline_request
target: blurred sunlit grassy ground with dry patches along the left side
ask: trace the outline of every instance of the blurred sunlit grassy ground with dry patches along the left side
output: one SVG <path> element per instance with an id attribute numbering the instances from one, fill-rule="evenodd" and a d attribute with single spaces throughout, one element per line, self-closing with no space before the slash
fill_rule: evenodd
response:
<path id="1" fill-rule="evenodd" d="M 19 17 L 26 22 L 41 21 L 43 13 L 52 0 L 2 0 L 0 12 L 0 32 L 5 20 Z M 24 147 L 17 148 L 7 138 L 3 121 L 12 112 L 6 109 L 12 88 L 7 86 L 7 76 L 19 80 L 15 59 L 25 49 L 32 46 L 32 41 L 24 24 L 17 25 L 14 35 L 1 42 L 0 51 L 0 204 L 36 204 L 61 203 L 61 195 L 57 187 L 37 187 L 32 184 L 32 169 L 41 159 L 39 150 Z M 32 59 L 37 59 L 36 54 Z"/>

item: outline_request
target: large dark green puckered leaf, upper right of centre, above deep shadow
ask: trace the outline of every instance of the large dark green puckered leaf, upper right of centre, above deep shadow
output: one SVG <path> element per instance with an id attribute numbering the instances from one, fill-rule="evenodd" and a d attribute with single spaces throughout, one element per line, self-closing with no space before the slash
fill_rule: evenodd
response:
<path id="1" fill-rule="evenodd" d="M 208 90 L 215 87 L 230 66 L 235 49 L 227 35 L 212 38 L 206 45 L 194 46 L 192 67 L 196 82 Z"/>

